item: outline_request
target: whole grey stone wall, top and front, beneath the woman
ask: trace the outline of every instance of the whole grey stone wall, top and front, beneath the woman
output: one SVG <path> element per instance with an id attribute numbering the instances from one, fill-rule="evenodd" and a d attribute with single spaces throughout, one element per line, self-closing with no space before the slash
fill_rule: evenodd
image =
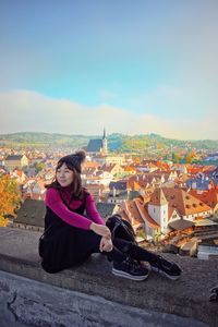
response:
<path id="1" fill-rule="evenodd" d="M 177 281 L 155 272 L 143 282 L 118 278 L 111 274 L 111 263 L 101 255 L 50 275 L 40 267 L 39 235 L 15 228 L 0 229 L 0 270 L 8 274 L 0 277 L 0 302 L 8 307 L 0 308 L 4 316 L 10 308 L 17 322 L 26 317 L 31 326 L 129 326 L 133 318 L 131 326 L 137 327 L 218 326 L 218 303 L 208 302 L 209 289 L 218 282 L 218 259 L 165 254 L 183 268 Z M 81 320 L 76 320 L 78 316 Z"/>

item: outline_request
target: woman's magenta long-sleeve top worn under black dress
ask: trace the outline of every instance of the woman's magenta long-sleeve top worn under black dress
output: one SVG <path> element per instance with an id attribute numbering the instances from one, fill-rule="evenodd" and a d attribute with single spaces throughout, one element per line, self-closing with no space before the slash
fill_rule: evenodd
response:
<path id="1" fill-rule="evenodd" d="M 85 210 L 87 216 L 86 218 L 77 213 L 71 211 L 77 209 L 82 205 L 81 199 L 70 201 L 71 194 L 69 192 L 69 189 L 63 187 L 63 190 L 61 191 L 61 196 L 68 204 L 68 208 L 66 205 L 63 203 L 59 192 L 60 191 L 57 189 L 48 189 L 46 192 L 45 203 L 63 221 L 71 226 L 85 230 L 90 229 L 90 223 L 93 221 L 98 225 L 105 225 L 105 220 L 100 217 L 99 213 L 97 211 L 95 201 L 89 193 L 86 194 L 85 199 Z"/>

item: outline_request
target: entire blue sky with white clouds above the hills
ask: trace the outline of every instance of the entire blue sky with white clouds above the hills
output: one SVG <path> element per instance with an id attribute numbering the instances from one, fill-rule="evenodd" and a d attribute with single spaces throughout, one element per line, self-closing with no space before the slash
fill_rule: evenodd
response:
<path id="1" fill-rule="evenodd" d="M 0 0 L 0 134 L 218 140 L 217 0 Z"/>

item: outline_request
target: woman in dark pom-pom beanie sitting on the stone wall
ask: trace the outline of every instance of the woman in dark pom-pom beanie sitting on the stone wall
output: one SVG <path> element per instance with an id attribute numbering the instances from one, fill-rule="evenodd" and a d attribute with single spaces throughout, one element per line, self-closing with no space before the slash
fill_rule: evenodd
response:
<path id="1" fill-rule="evenodd" d="M 83 263 L 92 253 L 112 261 L 112 272 L 133 280 L 144 280 L 149 270 L 142 262 L 171 279 L 181 275 L 178 265 L 134 243 L 114 238 L 96 209 L 92 195 L 82 186 L 81 165 L 85 153 L 77 152 L 58 161 L 55 181 L 47 185 L 41 266 L 58 272 Z M 84 215 L 86 213 L 86 215 Z"/>

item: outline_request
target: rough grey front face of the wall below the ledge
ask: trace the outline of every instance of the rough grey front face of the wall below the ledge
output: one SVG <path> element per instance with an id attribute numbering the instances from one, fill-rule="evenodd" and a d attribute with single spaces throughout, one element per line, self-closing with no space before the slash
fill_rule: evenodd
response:
<path id="1" fill-rule="evenodd" d="M 31 290 L 31 291 L 29 291 Z M 158 313 L 69 291 L 0 270 L 1 327 L 207 327 L 192 318 Z"/>

